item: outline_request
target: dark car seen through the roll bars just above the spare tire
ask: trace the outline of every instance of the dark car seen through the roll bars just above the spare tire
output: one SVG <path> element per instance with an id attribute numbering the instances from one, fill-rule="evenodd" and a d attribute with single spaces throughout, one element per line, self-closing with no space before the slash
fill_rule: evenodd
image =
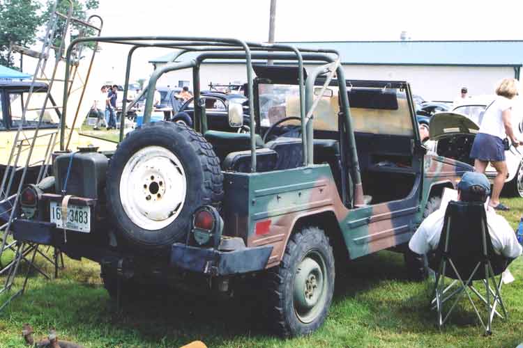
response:
<path id="1" fill-rule="evenodd" d="M 173 122 L 183 123 L 192 127 L 194 122 L 194 98 L 187 100 L 178 110 L 178 113 L 174 114 L 171 119 Z M 202 100 L 205 102 L 205 110 L 207 116 L 207 125 L 209 129 L 226 131 L 226 132 L 237 132 L 238 129 L 229 126 L 229 120 L 227 118 L 229 104 L 246 104 L 247 98 L 239 94 L 225 94 L 220 92 L 202 91 Z M 240 132 L 248 132 L 250 129 L 248 107 L 243 107 L 243 127 L 239 129 Z"/>

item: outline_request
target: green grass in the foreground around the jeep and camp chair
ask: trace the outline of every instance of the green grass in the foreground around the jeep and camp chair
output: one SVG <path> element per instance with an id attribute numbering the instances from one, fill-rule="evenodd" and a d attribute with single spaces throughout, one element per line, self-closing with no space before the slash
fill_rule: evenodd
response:
<path id="1" fill-rule="evenodd" d="M 503 200 L 513 227 L 523 200 Z M 338 270 L 333 306 L 316 333 L 290 340 L 266 331 L 256 301 L 217 301 L 192 295 L 141 299 L 116 313 L 100 284 L 98 264 L 66 260 L 58 280 L 34 276 L 28 290 L 0 313 L 0 347 L 21 347 L 22 324 L 40 337 L 56 327 L 63 339 L 85 347 L 180 347 L 202 340 L 209 347 L 516 347 L 523 342 L 523 260 L 510 266 L 516 280 L 503 286 L 510 313 L 494 320 L 485 337 L 476 315 L 462 301 L 439 331 L 427 310 L 430 281 L 405 279 L 402 256 L 383 251 Z M 153 296 L 151 296 L 153 297 Z M 1 298 L 1 296 L 0 296 Z"/>

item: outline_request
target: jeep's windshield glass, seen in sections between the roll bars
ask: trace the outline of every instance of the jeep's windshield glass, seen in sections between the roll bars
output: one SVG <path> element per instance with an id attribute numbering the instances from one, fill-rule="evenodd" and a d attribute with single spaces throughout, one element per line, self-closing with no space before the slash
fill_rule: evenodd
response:
<path id="1" fill-rule="evenodd" d="M 317 87 L 314 94 L 320 92 Z M 314 99 L 319 97 L 314 95 Z M 338 131 L 338 86 L 330 86 L 320 97 L 314 111 L 314 129 Z M 349 90 L 354 132 L 413 136 L 411 113 L 404 90 L 388 88 L 351 88 Z M 259 84 L 261 127 L 271 127 L 287 117 L 300 117 L 300 97 L 296 85 Z M 298 120 L 285 122 L 299 124 Z"/>

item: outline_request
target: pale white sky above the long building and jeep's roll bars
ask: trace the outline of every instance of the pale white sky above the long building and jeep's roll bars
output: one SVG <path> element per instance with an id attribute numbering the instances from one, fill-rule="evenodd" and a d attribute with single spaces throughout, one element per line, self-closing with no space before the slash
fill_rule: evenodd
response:
<path id="1" fill-rule="evenodd" d="M 103 35 L 182 35 L 268 39 L 270 0 L 100 0 Z M 277 0 L 276 41 L 523 40 L 523 1 Z M 125 76 L 128 49 L 105 44 L 108 79 Z M 151 58 L 137 51 L 131 79 L 147 78 Z"/>

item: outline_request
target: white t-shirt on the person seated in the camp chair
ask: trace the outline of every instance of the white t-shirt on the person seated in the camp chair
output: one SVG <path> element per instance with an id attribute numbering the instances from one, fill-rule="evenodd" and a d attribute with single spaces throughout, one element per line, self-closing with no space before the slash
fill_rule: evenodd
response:
<path id="1" fill-rule="evenodd" d="M 440 207 L 423 220 L 409 242 L 411 251 L 425 254 L 428 251 L 436 250 L 443 229 L 445 211 L 446 207 Z M 494 212 L 494 209 L 487 209 L 487 226 L 494 252 L 511 259 L 521 255 L 522 246 L 517 242 L 514 230 L 503 216 Z"/>

